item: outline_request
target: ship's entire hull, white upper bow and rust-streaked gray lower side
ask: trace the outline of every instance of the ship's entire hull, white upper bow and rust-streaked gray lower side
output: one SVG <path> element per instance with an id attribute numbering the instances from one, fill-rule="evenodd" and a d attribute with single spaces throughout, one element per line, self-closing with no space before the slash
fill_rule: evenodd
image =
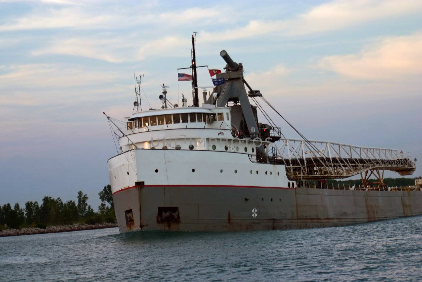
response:
<path id="1" fill-rule="evenodd" d="M 302 229 L 422 214 L 421 191 L 297 187 L 283 165 L 243 153 L 136 149 L 108 165 L 122 233 Z"/>

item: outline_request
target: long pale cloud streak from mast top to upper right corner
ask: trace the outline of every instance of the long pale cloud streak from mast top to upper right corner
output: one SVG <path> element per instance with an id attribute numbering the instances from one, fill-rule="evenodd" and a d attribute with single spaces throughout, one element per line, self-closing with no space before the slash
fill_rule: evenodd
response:
<path id="1" fill-rule="evenodd" d="M 321 4 L 292 19 L 251 20 L 246 26 L 223 32 L 207 33 L 207 40 L 233 40 L 252 36 L 280 33 L 282 36 L 303 36 L 345 27 L 362 25 L 377 19 L 421 13 L 419 0 L 340 0 Z"/>

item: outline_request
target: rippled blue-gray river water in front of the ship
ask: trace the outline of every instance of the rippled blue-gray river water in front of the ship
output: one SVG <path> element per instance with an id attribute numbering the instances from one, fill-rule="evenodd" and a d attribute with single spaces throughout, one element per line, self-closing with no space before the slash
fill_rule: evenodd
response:
<path id="1" fill-rule="evenodd" d="M 422 216 L 345 227 L 0 237 L 4 281 L 421 281 Z"/>

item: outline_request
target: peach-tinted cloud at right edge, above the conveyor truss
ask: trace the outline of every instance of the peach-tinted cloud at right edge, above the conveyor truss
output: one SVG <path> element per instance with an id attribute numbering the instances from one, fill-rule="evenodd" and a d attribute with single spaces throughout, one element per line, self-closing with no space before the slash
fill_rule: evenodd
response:
<path id="1" fill-rule="evenodd" d="M 355 79 L 422 75 L 422 33 L 379 39 L 357 54 L 323 57 L 318 67 Z"/>

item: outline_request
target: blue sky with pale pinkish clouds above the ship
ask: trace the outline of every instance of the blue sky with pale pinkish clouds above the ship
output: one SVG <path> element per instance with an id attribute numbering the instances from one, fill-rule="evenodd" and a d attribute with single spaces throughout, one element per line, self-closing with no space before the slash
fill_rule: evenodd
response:
<path id="1" fill-rule="evenodd" d="M 116 155 L 103 111 L 133 112 L 134 68 L 143 109 L 162 83 L 190 100 L 177 68 L 193 32 L 198 66 L 224 68 L 225 49 L 308 139 L 397 148 L 422 175 L 421 14 L 420 0 L 0 0 L 0 204 L 82 190 L 96 210 Z"/>

